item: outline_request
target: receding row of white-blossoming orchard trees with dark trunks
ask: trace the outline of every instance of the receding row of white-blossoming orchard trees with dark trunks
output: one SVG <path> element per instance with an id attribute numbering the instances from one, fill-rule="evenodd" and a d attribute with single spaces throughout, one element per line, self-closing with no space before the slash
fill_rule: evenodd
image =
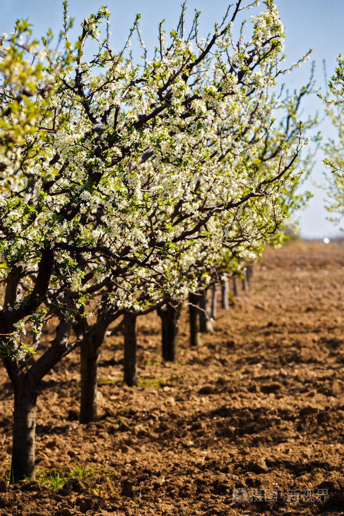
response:
<path id="1" fill-rule="evenodd" d="M 80 347 L 80 420 L 90 421 L 109 325 L 123 327 L 135 384 L 136 317 L 160 311 L 173 359 L 189 293 L 280 241 L 302 202 L 296 165 L 313 121 L 302 126 L 297 112 L 312 81 L 284 97 L 276 88 L 290 71 L 284 27 L 264 3 L 247 39 L 242 11 L 256 0 L 230 6 L 206 40 L 198 12 L 185 31 L 183 8 L 169 37 L 159 26 L 143 66 L 126 52 L 138 18 L 115 53 L 104 7 L 74 44 L 65 2 L 60 51 L 50 37 L 40 48 L 26 22 L 0 40 L 0 338 L 14 391 L 13 481 L 34 477 L 38 386 L 64 356 Z M 90 40 L 97 50 L 86 60 Z M 55 337 L 42 347 L 48 319 Z"/>

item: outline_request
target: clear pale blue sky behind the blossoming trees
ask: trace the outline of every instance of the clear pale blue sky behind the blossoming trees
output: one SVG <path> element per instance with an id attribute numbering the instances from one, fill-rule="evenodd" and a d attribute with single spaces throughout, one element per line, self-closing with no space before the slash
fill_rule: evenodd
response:
<path id="1" fill-rule="evenodd" d="M 231 0 L 234 3 L 234 0 Z M 157 24 L 166 19 L 166 27 L 173 28 L 179 17 L 181 0 L 70 0 L 69 13 L 75 18 L 75 28 L 80 22 L 94 12 L 100 4 L 105 4 L 111 11 L 112 46 L 119 48 L 128 33 L 135 13 L 141 14 L 141 33 L 148 49 L 154 50 L 157 44 Z M 323 59 L 326 60 L 327 77 L 330 77 L 336 65 L 336 57 L 344 54 L 344 37 L 342 27 L 344 25 L 344 0 L 275 0 L 279 9 L 280 18 L 285 30 L 286 65 L 297 61 L 309 48 L 313 49 L 311 60 L 316 62 L 317 87 L 324 91 Z M 1 0 L 2 16 L 0 19 L 0 33 L 9 33 L 17 18 L 28 18 L 34 24 L 35 35 L 41 36 L 48 27 L 58 34 L 62 20 L 62 1 L 50 0 L 42 3 L 41 0 Z M 188 18 L 191 19 L 194 9 L 202 11 L 200 33 L 206 35 L 211 31 L 215 21 L 223 16 L 227 2 L 225 0 L 188 0 Z M 250 11 L 247 18 L 256 11 L 264 9 L 263 2 L 255 11 Z M 302 68 L 285 76 L 286 86 L 289 89 L 299 88 L 306 83 L 310 72 L 310 62 L 307 61 Z M 302 116 L 319 111 L 323 118 L 322 104 L 317 96 L 310 95 L 305 103 Z M 319 127 L 324 139 L 335 137 L 332 126 L 324 120 Z M 300 219 L 301 234 L 305 237 L 333 237 L 339 233 L 333 223 L 326 220 L 324 209 L 324 192 L 314 186 L 313 183 L 323 183 L 323 172 L 326 170 L 322 164 L 321 151 L 316 156 L 316 166 L 307 180 L 304 188 L 311 190 L 314 197 L 309 202 L 308 208 L 298 214 Z"/>

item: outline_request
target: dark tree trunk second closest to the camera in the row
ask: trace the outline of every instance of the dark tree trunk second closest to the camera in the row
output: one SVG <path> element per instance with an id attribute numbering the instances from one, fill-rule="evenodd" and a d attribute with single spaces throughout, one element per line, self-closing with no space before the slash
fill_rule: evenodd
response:
<path id="1" fill-rule="evenodd" d="M 80 423 L 90 423 L 97 418 L 97 365 L 99 346 L 92 338 L 85 338 L 80 346 L 81 401 Z"/>

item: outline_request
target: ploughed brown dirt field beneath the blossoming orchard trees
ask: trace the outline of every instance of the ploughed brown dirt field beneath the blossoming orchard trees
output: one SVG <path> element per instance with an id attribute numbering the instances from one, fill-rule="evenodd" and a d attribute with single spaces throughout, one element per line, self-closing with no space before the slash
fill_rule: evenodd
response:
<path id="1" fill-rule="evenodd" d="M 96 423 L 76 420 L 72 354 L 38 398 L 39 483 L 3 480 L 12 394 L 1 368 L 0 514 L 344 514 L 343 285 L 343 246 L 268 249 L 198 349 L 183 312 L 175 364 L 161 364 L 157 316 L 142 317 L 140 386 L 121 382 L 121 338 L 109 338 Z M 44 485 L 44 472 L 77 461 L 84 472 L 62 489 Z"/>

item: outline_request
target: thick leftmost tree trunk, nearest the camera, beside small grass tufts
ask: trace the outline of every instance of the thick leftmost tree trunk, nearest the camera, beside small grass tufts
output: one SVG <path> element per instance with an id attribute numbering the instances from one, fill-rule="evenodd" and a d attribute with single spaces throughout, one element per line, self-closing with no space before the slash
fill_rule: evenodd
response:
<path id="1" fill-rule="evenodd" d="M 12 483 L 35 479 L 35 432 L 37 390 L 27 376 L 14 387 Z"/>

